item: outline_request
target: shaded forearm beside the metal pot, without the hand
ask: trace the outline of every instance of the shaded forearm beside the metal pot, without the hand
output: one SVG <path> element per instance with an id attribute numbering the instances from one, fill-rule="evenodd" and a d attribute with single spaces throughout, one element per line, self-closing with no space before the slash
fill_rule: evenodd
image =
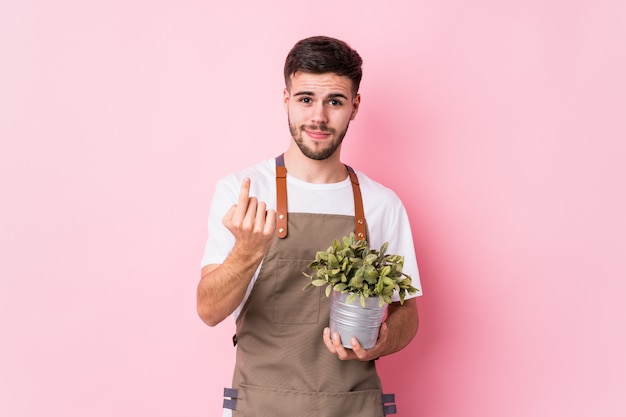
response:
<path id="1" fill-rule="evenodd" d="M 419 317 L 415 298 L 405 300 L 404 304 L 390 304 L 386 324 L 387 342 L 381 356 L 404 349 L 417 334 Z"/>

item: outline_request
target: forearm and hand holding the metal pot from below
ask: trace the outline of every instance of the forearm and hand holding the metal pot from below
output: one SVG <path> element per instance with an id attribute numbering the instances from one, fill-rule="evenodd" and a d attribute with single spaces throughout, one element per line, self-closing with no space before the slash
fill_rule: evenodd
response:
<path id="1" fill-rule="evenodd" d="M 371 349 L 363 349 L 355 338 L 350 341 L 352 349 L 346 349 L 338 333 L 333 334 L 331 339 L 329 328 L 324 329 L 324 343 L 341 360 L 370 361 L 406 347 L 417 334 L 418 324 L 417 303 L 415 298 L 411 298 L 404 304 L 394 302 L 389 305 L 387 320 L 380 327 L 376 345 Z"/>

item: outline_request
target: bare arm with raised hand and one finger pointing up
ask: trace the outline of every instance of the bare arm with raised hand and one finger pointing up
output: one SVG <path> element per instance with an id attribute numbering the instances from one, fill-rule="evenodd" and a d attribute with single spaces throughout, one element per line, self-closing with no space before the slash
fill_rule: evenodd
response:
<path id="1" fill-rule="evenodd" d="M 274 237 L 275 212 L 249 197 L 250 180 L 241 184 L 237 204 L 222 222 L 235 237 L 224 262 L 202 268 L 197 292 L 198 315 L 209 326 L 228 317 L 243 300 L 248 284 Z"/>

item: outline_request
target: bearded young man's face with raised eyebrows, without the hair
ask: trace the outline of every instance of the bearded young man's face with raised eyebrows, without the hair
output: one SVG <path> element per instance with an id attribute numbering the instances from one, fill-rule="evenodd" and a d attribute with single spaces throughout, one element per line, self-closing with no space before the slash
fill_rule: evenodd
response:
<path id="1" fill-rule="evenodd" d="M 308 158 L 329 158 L 341 145 L 361 97 L 352 80 L 334 73 L 296 72 L 284 91 L 291 136 Z"/>

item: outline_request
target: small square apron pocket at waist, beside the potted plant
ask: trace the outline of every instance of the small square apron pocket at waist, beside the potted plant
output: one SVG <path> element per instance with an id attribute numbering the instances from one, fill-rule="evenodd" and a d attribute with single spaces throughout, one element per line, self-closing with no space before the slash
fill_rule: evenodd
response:
<path id="1" fill-rule="evenodd" d="M 322 288 L 302 289 L 310 282 L 302 272 L 310 260 L 278 259 L 274 285 L 272 321 L 285 324 L 316 324 L 319 322 Z"/>

